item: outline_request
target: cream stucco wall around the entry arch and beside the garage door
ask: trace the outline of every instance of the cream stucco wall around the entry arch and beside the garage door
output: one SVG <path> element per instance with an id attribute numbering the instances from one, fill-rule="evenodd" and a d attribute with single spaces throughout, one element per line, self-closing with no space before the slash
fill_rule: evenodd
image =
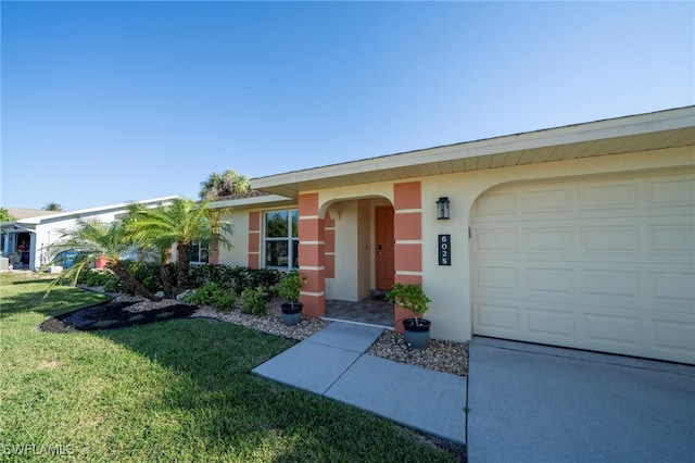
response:
<path id="1" fill-rule="evenodd" d="M 432 321 L 432 337 L 457 341 L 471 339 L 471 275 L 468 228 L 471 208 L 476 199 L 484 191 L 498 185 L 517 182 L 571 179 L 628 172 L 662 172 L 692 167 L 694 161 L 692 149 L 677 148 L 415 179 L 421 183 L 421 272 L 422 286 L 432 299 L 430 311 L 427 314 L 427 317 Z M 354 288 L 354 278 L 362 271 L 356 261 L 342 259 L 343 254 L 345 256 L 351 253 L 355 254 L 355 248 L 358 247 L 355 226 L 348 223 L 356 220 L 353 218 L 355 212 L 350 207 L 350 200 L 365 195 L 378 195 L 392 202 L 394 184 L 393 182 L 383 182 L 318 191 L 319 209 L 328 208 L 338 201 L 341 202 L 341 210 L 336 221 L 336 278 L 328 283 L 330 298 L 349 297 L 350 293 L 341 292 L 343 290 L 341 287 L 346 281 L 348 287 Z M 448 221 L 437 220 L 435 201 L 442 196 L 447 196 L 451 200 L 451 218 Z M 372 205 L 370 204 L 370 207 Z M 350 212 L 344 213 L 345 211 Z M 406 232 L 407 234 L 409 232 Z M 442 234 L 451 235 L 452 239 L 450 266 L 440 266 L 438 261 L 438 236 Z M 372 262 L 371 258 L 369 260 Z M 370 273 L 374 274 L 374 268 Z"/>

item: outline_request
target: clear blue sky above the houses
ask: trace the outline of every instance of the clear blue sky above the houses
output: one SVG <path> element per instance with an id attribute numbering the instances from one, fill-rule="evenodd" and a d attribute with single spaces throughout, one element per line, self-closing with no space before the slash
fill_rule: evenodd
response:
<path id="1" fill-rule="evenodd" d="M 695 104 L 694 2 L 8 2 L 0 205 Z"/>

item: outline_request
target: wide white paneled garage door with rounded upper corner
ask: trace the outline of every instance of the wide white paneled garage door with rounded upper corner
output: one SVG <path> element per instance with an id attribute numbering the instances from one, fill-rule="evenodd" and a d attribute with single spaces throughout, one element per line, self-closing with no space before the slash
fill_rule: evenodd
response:
<path id="1" fill-rule="evenodd" d="M 695 364 L 695 174 L 503 186 L 473 207 L 473 333 Z"/>

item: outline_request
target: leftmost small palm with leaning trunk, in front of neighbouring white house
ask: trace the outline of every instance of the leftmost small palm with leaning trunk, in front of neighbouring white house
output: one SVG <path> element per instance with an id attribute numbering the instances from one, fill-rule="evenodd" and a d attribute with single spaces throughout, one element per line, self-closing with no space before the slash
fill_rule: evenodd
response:
<path id="1" fill-rule="evenodd" d="M 157 299 L 128 272 L 125 262 L 121 259 L 131 245 L 124 222 L 115 221 L 105 224 L 98 218 L 79 218 L 74 228 L 62 229 L 61 234 L 59 241 L 49 247 L 49 252 L 53 258 L 67 251 L 76 252 L 77 256 L 75 264 L 54 283 L 67 277 L 75 285 L 85 268 L 93 265 L 100 256 L 105 256 L 106 268 L 113 271 L 128 288 L 148 299 Z"/>

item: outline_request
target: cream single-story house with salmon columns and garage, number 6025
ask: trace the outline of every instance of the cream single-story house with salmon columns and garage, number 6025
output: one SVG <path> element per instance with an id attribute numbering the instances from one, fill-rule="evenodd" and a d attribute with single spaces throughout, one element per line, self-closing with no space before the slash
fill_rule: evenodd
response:
<path id="1" fill-rule="evenodd" d="M 416 283 L 434 338 L 695 364 L 695 107 L 251 183 L 215 260 L 299 268 L 306 315 Z"/>

